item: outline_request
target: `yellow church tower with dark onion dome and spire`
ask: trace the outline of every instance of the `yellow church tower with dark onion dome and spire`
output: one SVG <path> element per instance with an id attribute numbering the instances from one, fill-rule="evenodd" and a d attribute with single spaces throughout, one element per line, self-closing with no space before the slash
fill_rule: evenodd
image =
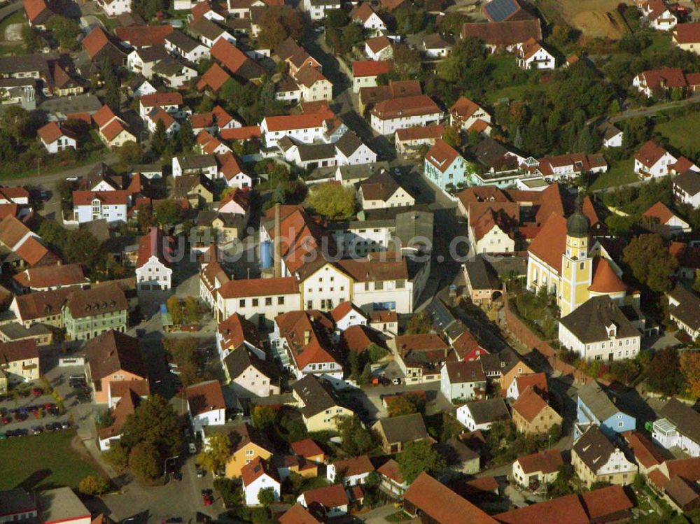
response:
<path id="1" fill-rule="evenodd" d="M 589 254 L 589 221 L 581 211 L 582 199 L 576 199 L 576 211 L 566 220 L 566 250 L 561 255 L 559 309 L 566 316 L 589 299 L 593 281 L 593 258 Z"/>

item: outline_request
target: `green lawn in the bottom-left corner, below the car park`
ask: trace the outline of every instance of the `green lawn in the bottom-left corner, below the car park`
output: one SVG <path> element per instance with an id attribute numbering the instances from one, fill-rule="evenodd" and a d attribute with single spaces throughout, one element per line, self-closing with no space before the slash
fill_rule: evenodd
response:
<path id="1" fill-rule="evenodd" d="M 77 488 L 97 467 L 71 447 L 75 431 L 58 431 L 0 441 L 0 490 L 23 484 L 27 490 Z"/>

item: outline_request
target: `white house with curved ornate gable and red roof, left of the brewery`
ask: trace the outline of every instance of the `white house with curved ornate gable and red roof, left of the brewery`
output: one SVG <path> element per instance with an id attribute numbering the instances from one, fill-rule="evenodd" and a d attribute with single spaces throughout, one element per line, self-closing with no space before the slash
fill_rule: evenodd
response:
<path id="1" fill-rule="evenodd" d="M 151 227 L 148 234 L 139 239 L 139 257 L 136 263 L 136 280 L 139 291 L 169 290 L 172 288 L 173 270 L 167 260 L 170 255 L 169 239 L 158 227 Z"/>

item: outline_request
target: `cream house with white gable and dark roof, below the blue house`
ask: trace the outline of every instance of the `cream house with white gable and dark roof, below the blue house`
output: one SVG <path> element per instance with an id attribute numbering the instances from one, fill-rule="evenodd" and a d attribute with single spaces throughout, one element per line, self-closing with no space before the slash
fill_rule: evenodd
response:
<path id="1" fill-rule="evenodd" d="M 638 472 L 622 450 L 612 444 L 596 425 L 591 425 L 573 444 L 571 465 L 578 478 L 590 488 L 596 482 L 626 486 Z"/>

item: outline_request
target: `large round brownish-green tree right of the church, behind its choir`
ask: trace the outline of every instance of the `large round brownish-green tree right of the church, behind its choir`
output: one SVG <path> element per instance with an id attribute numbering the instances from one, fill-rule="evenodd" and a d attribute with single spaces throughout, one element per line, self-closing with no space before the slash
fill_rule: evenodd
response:
<path id="1" fill-rule="evenodd" d="M 671 276 L 678 267 L 678 260 L 668 252 L 661 235 L 636 236 L 623 253 L 623 260 L 631 267 L 634 278 L 655 292 L 671 289 Z"/>

